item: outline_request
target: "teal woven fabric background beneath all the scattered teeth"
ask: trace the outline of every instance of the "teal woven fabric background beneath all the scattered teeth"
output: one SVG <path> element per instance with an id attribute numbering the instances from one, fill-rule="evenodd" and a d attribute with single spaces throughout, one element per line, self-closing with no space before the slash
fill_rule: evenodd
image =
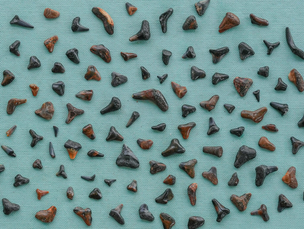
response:
<path id="1" fill-rule="evenodd" d="M 303 228 L 303 189 L 304 173 L 303 150 L 296 155 L 291 152 L 290 137 L 304 140 L 303 129 L 298 128 L 297 122 L 303 115 L 303 94 L 288 80 L 288 73 L 295 68 L 304 74 L 303 60 L 295 56 L 288 48 L 285 39 L 285 27 L 291 30 L 295 44 L 304 49 L 303 3 L 299 0 L 289 1 L 215 1 L 211 0 L 206 13 L 197 15 L 194 7 L 196 0 L 185 1 L 139 1 L 131 3 L 138 10 L 130 16 L 126 12 L 125 1 L 4 1 L 1 0 L 0 15 L 0 62 L 1 71 L 8 69 L 16 79 L 8 86 L 1 88 L 0 100 L 0 143 L 15 150 L 17 157 L 9 157 L 4 151 L 0 153 L 0 163 L 5 170 L 0 174 L 0 197 L 7 198 L 20 205 L 18 212 L 7 216 L 0 214 L 1 228 L 87 228 L 83 220 L 74 214 L 74 207 L 89 207 L 92 210 L 91 228 L 162 228 L 159 214 L 165 212 L 174 217 L 176 224 L 173 228 L 187 228 L 190 216 L 201 216 L 205 219 L 202 228 Z M 108 12 L 114 21 L 114 34 L 105 32 L 102 22 L 91 12 L 92 7 L 98 6 Z M 43 16 L 45 8 L 53 8 L 60 12 L 57 19 L 46 19 Z M 168 32 L 163 34 L 159 23 L 159 15 L 168 8 L 173 8 L 173 15 L 168 20 Z M 240 25 L 222 34 L 218 32 L 226 12 L 233 12 L 240 18 Z M 269 26 L 259 27 L 250 22 L 249 14 L 265 18 Z M 14 15 L 32 24 L 34 29 L 26 29 L 10 25 Z M 195 15 L 198 29 L 183 31 L 182 25 L 189 15 Z M 74 17 L 81 18 L 81 24 L 90 28 L 88 32 L 71 31 Z M 134 35 L 141 26 L 142 20 L 150 23 L 151 38 L 148 41 L 130 42 L 129 37 Z M 58 35 L 54 51 L 49 53 L 43 45 L 47 38 Z M 263 39 L 269 42 L 280 41 L 281 44 L 269 56 Z M 20 56 L 9 52 L 9 45 L 20 40 Z M 248 43 L 255 51 L 255 55 L 245 61 L 240 60 L 238 44 Z M 105 45 L 111 52 L 112 61 L 105 63 L 98 56 L 90 52 L 92 45 Z M 196 58 L 182 59 L 182 54 L 188 46 L 193 46 Z M 212 63 L 209 49 L 228 46 L 230 52 L 217 64 Z M 74 64 L 65 55 L 68 49 L 79 50 L 80 64 Z M 168 66 L 161 60 L 162 49 L 168 49 L 173 54 Z M 125 62 L 120 52 L 134 52 L 136 59 Z M 41 67 L 28 70 L 30 56 L 37 56 Z M 64 74 L 51 72 L 54 62 L 60 62 L 65 67 Z M 84 74 L 89 65 L 94 65 L 101 74 L 102 80 L 87 81 Z M 141 78 L 140 66 L 144 66 L 151 73 L 147 80 Z M 204 79 L 192 81 L 190 78 L 191 66 L 206 71 Z M 262 66 L 269 66 L 269 77 L 257 75 Z M 128 77 L 127 83 L 118 87 L 111 86 L 111 72 L 116 71 Z M 230 78 L 214 86 L 211 83 L 215 72 L 225 73 Z M 168 73 L 163 84 L 159 83 L 157 75 Z M 253 85 L 245 97 L 240 97 L 233 86 L 236 76 L 253 79 Z M 288 84 L 285 92 L 275 91 L 278 77 Z M 52 83 L 62 80 L 65 83 L 64 96 L 58 96 L 52 90 Z M 187 94 L 179 99 L 171 88 L 171 81 L 175 81 L 188 89 Z M 39 92 L 32 96 L 29 84 L 36 83 Z M 153 103 L 132 99 L 132 94 L 146 90 L 159 89 L 168 101 L 169 109 L 162 112 Z M 94 91 L 92 101 L 82 101 L 75 94 L 84 89 Z M 261 101 L 258 103 L 252 94 L 261 90 Z M 216 108 L 211 112 L 202 109 L 199 103 L 208 100 L 213 95 L 219 95 Z M 105 115 L 100 110 L 117 96 L 122 108 Z M 7 115 L 6 105 L 11 98 L 26 98 L 27 103 L 16 108 L 12 115 Z M 54 104 L 55 113 L 52 120 L 44 120 L 35 115 L 34 111 L 44 102 Z M 269 106 L 271 101 L 287 103 L 289 111 L 281 116 L 278 111 Z M 66 124 L 66 104 L 71 103 L 77 108 L 84 109 L 85 113 L 76 117 L 72 123 Z M 224 103 L 236 106 L 229 114 L 223 107 Z M 181 116 L 181 106 L 190 104 L 197 111 L 186 118 Z M 240 117 L 243 109 L 256 110 L 266 106 L 268 112 L 260 123 L 244 120 Z M 133 111 L 140 113 L 136 122 L 126 128 Z M 220 131 L 207 136 L 208 120 L 213 117 Z M 195 122 L 188 140 L 184 140 L 177 126 Z M 91 123 L 96 139 L 90 140 L 82 134 L 82 128 Z M 163 132 L 156 132 L 151 126 L 166 123 Z M 277 133 L 261 129 L 262 125 L 275 124 Z M 5 132 L 17 125 L 12 136 L 7 137 Z M 54 137 L 53 125 L 59 127 L 57 138 Z M 110 126 L 124 136 L 123 142 L 106 142 L 105 138 Z M 243 136 L 237 137 L 229 130 L 244 126 Z M 31 136 L 29 129 L 35 130 L 44 139 L 34 148 L 30 147 Z M 275 144 L 276 150 L 270 152 L 258 146 L 261 136 L 266 136 Z M 138 138 L 154 141 L 150 150 L 142 150 L 136 143 Z M 186 152 L 181 155 L 162 157 L 173 138 L 178 138 Z M 70 160 L 64 143 L 71 139 L 79 142 L 82 149 L 75 160 Z M 53 143 L 56 158 L 51 158 L 48 152 L 49 142 Z M 138 169 L 118 167 L 116 158 L 121 152 L 123 143 L 127 144 L 140 161 Z M 233 166 L 235 156 L 240 146 L 247 145 L 257 150 L 257 157 L 250 160 L 241 168 Z M 223 156 L 214 157 L 202 152 L 203 146 L 222 146 Z M 105 154 L 102 158 L 90 158 L 87 152 L 95 149 Z M 33 169 L 32 163 L 39 158 L 43 169 Z M 196 176 L 190 178 L 178 168 L 180 162 L 196 158 Z M 161 173 L 149 173 L 150 160 L 157 160 L 167 165 Z M 55 173 L 63 164 L 67 179 L 56 177 Z M 261 164 L 277 165 L 278 171 L 269 175 L 261 187 L 255 186 L 255 167 Z M 210 167 L 217 168 L 218 185 L 213 185 L 202 177 L 202 172 Z M 299 186 L 291 189 L 282 182 L 282 176 L 289 167 L 297 170 Z M 229 187 L 227 182 L 237 171 L 240 182 L 236 187 Z M 14 177 L 20 173 L 30 179 L 29 184 L 13 187 Z M 81 175 L 96 174 L 95 181 L 88 182 L 80 178 Z M 176 176 L 176 184 L 168 186 L 163 180 L 169 174 Z M 104 179 L 116 178 L 111 187 L 104 183 Z M 135 179 L 138 182 L 138 192 L 132 193 L 126 186 Z M 187 195 L 188 185 L 196 182 L 197 202 L 192 206 Z M 74 199 L 66 197 L 69 186 L 74 189 Z M 101 200 L 93 200 L 88 194 L 98 187 L 102 192 Z M 37 200 L 36 188 L 48 190 L 50 193 Z M 168 204 L 155 203 L 154 199 L 171 188 L 174 198 Z M 240 212 L 231 203 L 230 195 L 242 195 L 251 192 L 247 210 Z M 278 195 L 284 194 L 293 207 L 283 212 L 277 211 Z M 230 214 L 221 223 L 216 222 L 216 212 L 211 200 L 216 198 L 221 204 L 230 209 Z M 122 216 L 125 225 L 118 224 L 109 211 L 118 204 L 124 204 Z M 146 203 L 154 215 L 153 222 L 140 219 L 138 209 Z M 270 220 L 264 222 L 259 216 L 251 216 L 250 211 L 265 204 L 268 208 Z M 35 218 L 39 210 L 46 210 L 50 206 L 57 207 L 57 214 L 53 222 L 46 224 Z"/>

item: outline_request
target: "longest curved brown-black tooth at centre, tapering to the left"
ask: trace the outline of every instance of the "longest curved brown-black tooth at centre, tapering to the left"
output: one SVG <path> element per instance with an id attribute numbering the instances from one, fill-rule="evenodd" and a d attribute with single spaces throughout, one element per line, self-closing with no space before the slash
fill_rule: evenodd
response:
<path id="1" fill-rule="evenodd" d="M 155 103 L 162 111 L 167 111 L 169 108 L 168 103 L 163 94 L 156 89 L 149 89 L 146 91 L 134 93 L 132 95 L 132 98 L 139 100 L 150 100 Z"/>

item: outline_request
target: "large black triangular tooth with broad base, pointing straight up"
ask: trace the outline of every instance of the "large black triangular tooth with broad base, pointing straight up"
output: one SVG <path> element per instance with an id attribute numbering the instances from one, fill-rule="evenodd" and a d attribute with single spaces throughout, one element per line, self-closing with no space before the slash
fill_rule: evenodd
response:
<path id="1" fill-rule="evenodd" d="M 123 149 L 116 159 L 116 165 L 136 169 L 139 167 L 139 161 L 132 150 L 126 144 L 123 144 Z"/>

